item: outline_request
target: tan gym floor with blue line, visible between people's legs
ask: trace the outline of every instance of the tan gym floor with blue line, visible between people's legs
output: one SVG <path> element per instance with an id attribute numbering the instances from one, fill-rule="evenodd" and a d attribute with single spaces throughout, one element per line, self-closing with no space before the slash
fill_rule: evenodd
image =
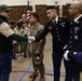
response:
<path id="1" fill-rule="evenodd" d="M 52 64 L 52 40 L 51 35 L 46 36 L 46 44 L 44 49 L 44 65 L 45 65 L 45 81 L 53 81 L 53 64 Z M 10 81 L 32 81 L 29 75 L 32 72 L 31 59 L 23 59 L 18 55 L 16 60 L 13 60 Z M 38 77 L 36 81 L 39 81 Z M 64 65 L 62 64 L 60 81 L 65 80 Z"/>

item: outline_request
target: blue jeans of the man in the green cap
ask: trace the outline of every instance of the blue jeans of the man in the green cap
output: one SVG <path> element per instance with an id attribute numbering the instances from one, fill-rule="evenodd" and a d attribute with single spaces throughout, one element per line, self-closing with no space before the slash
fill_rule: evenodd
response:
<path id="1" fill-rule="evenodd" d="M 0 81 L 9 81 L 12 70 L 12 54 L 0 54 Z"/>

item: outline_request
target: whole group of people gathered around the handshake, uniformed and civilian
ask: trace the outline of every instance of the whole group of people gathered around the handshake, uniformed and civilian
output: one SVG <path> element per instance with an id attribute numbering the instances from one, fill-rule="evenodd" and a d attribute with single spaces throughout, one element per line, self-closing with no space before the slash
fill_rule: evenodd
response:
<path id="1" fill-rule="evenodd" d="M 45 26 L 39 22 L 39 14 L 26 14 L 22 19 L 8 21 L 12 11 L 5 4 L 0 5 L 0 81 L 9 81 L 12 71 L 12 58 L 16 59 L 16 53 L 24 58 L 30 58 L 33 64 L 33 72 L 29 78 L 38 77 L 39 81 L 45 81 L 45 68 L 43 64 L 43 50 L 45 36 L 51 32 L 53 51 L 54 81 L 60 81 L 60 66 L 64 59 L 66 77 L 65 81 L 80 81 L 82 71 L 82 2 L 73 1 L 68 10 L 69 17 L 59 17 L 55 5 L 46 8 L 49 22 Z M 38 72 L 39 71 L 39 72 Z"/>

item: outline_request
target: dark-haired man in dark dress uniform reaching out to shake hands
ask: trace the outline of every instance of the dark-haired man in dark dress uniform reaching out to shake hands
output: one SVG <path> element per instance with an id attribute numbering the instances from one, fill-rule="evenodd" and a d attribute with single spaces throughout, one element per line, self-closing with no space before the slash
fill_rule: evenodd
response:
<path id="1" fill-rule="evenodd" d="M 63 48 L 67 44 L 69 39 L 70 22 L 67 17 L 59 17 L 57 15 L 57 10 L 54 5 L 47 6 L 46 14 L 50 22 L 46 23 L 43 31 L 36 37 L 29 37 L 29 39 L 39 41 L 44 38 L 49 31 L 52 35 L 53 41 L 53 65 L 54 65 L 54 81 L 59 81 L 60 76 L 60 64 L 64 54 Z M 69 62 L 64 60 L 66 67 L 66 80 L 71 80 L 71 69 L 69 67 Z"/>

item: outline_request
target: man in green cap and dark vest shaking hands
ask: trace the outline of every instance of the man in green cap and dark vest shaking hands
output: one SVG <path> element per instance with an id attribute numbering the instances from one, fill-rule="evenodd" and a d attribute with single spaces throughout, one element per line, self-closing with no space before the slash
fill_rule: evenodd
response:
<path id="1" fill-rule="evenodd" d="M 0 81 L 9 81 L 12 70 L 13 40 L 28 41 L 27 37 L 15 35 L 9 25 L 9 15 L 12 9 L 0 5 Z"/>

